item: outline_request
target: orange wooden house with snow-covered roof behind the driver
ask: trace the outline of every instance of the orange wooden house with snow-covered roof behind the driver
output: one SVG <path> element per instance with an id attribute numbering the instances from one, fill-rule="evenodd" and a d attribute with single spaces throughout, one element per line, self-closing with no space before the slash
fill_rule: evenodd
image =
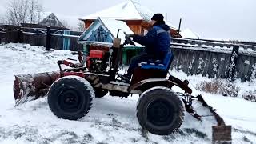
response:
<path id="1" fill-rule="evenodd" d="M 94 14 L 80 18 L 85 23 L 87 29 L 98 17 L 122 20 L 134 32 L 134 34 L 146 34 L 150 29 L 150 20 L 155 13 L 133 0 L 127 0 L 116 6 L 112 6 Z M 178 29 L 170 22 L 166 22 L 170 26 L 170 34 L 172 37 L 178 37 Z"/>

